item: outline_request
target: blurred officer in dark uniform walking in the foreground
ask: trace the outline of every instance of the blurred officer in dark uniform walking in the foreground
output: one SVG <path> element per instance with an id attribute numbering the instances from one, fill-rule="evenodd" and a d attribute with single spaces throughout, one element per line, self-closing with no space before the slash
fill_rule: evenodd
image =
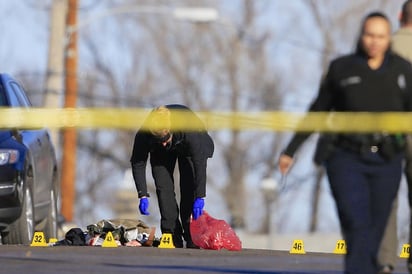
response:
<path id="1" fill-rule="evenodd" d="M 367 15 L 356 52 L 333 60 L 309 111 L 412 110 L 412 68 L 390 51 L 391 27 L 382 13 Z M 296 134 L 279 158 L 285 174 L 310 134 Z M 376 274 L 377 252 L 397 194 L 404 150 L 402 136 L 337 134 L 325 160 L 347 243 L 345 273 Z"/>

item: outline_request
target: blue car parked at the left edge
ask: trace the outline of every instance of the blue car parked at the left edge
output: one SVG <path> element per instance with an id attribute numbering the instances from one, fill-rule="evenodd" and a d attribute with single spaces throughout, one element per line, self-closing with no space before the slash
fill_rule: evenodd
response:
<path id="1" fill-rule="evenodd" d="M 0 107 L 30 108 L 22 85 L 0 74 Z M 29 244 L 35 231 L 57 236 L 58 169 L 47 129 L 0 129 L 0 233 Z"/>

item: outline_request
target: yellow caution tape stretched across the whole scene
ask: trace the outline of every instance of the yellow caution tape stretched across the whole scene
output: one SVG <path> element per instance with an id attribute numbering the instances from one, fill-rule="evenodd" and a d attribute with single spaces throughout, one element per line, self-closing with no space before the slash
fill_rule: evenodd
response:
<path id="1" fill-rule="evenodd" d="M 0 109 L 0 128 L 113 128 L 136 130 L 149 109 L 65 108 Z M 208 130 L 296 132 L 412 132 L 412 112 L 196 112 Z M 195 130 L 185 111 L 173 111 L 173 129 Z M 152 125 L 144 125 L 151 128 Z"/>

